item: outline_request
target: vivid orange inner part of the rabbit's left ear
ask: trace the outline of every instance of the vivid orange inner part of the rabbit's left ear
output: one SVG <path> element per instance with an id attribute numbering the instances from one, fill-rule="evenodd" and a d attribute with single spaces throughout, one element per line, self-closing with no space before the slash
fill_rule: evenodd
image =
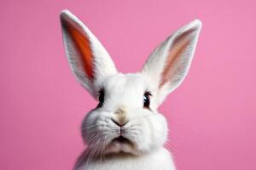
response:
<path id="1" fill-rule="evenodd" d="M 75 47 L 78 49 L 81 56 L 81 61 L 83 63 L 83 69 L 87 74 L 87 77 L 92 80 L 93 75 L 93 55 L 90 49 L 90 42 L 88 37 L 86 37 L 79 28 L 73 26 L 72 24 L 67 24 L 66 26 L 68 33 L 70 34 Z"/>

